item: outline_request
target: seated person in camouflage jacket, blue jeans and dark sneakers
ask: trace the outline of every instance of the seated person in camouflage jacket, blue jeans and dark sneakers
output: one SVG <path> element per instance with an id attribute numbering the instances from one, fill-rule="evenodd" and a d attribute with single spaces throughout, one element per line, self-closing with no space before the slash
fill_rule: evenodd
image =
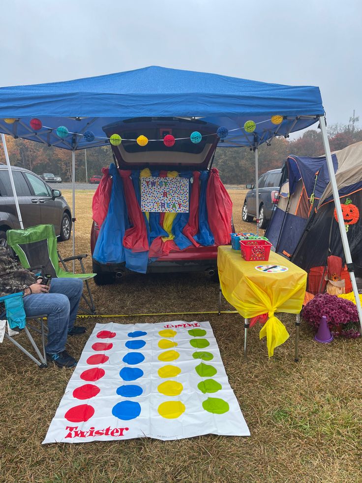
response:
<path id="1" fill-rule="evenodd" d="M 30 270 L 21 266 L 6 247 L 0 247 L 0 296 L 15 292 L 24 293 L 27 317 L 48 317 L 47 358 L 59 367 L 74 367 L 77 361 L 65 350 L 68 335 L 84 334 L 85 327 L 74 326 L 83 281 L 73 278 L 52 279 L 50 287 L 42 284 Z M 3 312 L 1 304 L 0 312 Z"/>

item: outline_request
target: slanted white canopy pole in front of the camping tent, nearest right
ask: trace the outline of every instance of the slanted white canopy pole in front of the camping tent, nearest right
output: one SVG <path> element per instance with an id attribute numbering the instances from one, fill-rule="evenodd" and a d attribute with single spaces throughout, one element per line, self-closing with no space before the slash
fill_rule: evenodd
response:
<path id="1" fill-rule="evenodd" d="M 337 182 L 336 182 L 336 179 L 335 179 L 335 174 L 334 174 L 334 169 L 333 169 L 331 149 L 330 149 L 330 144 L 329 144 L 329 141 L 328 141 L 326 122 L 325 122 L 324 116 L 319 116 L 319 125 L 320 125 L 321 131 L 322 131 L 323 146 L 324 146 L 324 151 L 326 153 L 326 158 L 327 158 L 328 172 L 329 172 L 330 180 L 331 180 L 335 210 L 337 212 L 339 231 L 341 233 L 341 238 L 342 238 L 344 257 L 346 259 L 347 267 L 349 265 L 353 266 L 351 251 L 349 249 L 349 244 L 348 244 L 346 228 L 344 226 L 344 221 L 343 221 L 341 200 L 339 199 L 338 187 L 337 187 Z M 357 306 L 357 310 L 358 310 L 358 316 L 359 316 L 359 319 L 360 319 L 360 325 L 361 325 L 360 333 L 362 333 L 362 307 L 361 307 L 361 301 L 360 301 L 360 297 L 359 297 L 359 293 L 358 293 L 356 277 L 355 277 L 355 273 L 353 271 L 349 272 L 349 274 L 350 274 L 350 277 L 351 277 L 353 293 L 355 295 L 356 306 Z"/>

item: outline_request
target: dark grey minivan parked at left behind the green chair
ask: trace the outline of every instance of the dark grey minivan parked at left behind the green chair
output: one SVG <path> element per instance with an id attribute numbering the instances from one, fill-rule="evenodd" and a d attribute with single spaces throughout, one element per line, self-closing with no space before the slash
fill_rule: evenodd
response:
<path id="1" fill-rule="evenodd" d="M 52 190 L 28 169 L 14 166 L 11 172 L 24 228 L 51 224 L 61 241 L 68 240 L 72 215 L 60 190 Z M 6 165 L 0 165 L 0 240 L 6 238 L 7 230 L 20 227 L 9 172 Z"/>

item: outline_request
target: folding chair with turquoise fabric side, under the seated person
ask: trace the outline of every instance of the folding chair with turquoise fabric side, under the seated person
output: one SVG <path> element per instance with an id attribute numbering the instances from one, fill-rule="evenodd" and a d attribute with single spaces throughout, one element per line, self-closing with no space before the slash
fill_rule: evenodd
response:
<path id="1" fill-rule="evenodd" d="M 4 301 L 6 313 L 3 312 L 0 314 L 0 319 L 5 320 L 6 324 L 8 324 L 9 331 L 6 332 L 6 325 L 4 327 L 4 338 L 12 342 L 18 349 L 20 349 L 24 354 L 26 354 L 32 361 L 35 362 L 39 366 L 39 369 L 43 367 L 48 367 L 47 364 L 47 355 L 45 351 L 45 334 L 44 334 L 44 316 L 39 317 L 26 317 L 24 311 L 24 303 L 23 303 L 23 292 L 11 293 L 9 295 L 5 295 L 0 297 L 0 301 Z M 29 321 L 38 321 L 40 323 L 40 329 L 30 325 Z M 36 342 L 32 338 L 29 328 L 33 329 L 35 332 L 41 334 L 41 341 L 42 341 L 42 349 L 43 354 L 40 352 Z M 23 331 L 28 337 L 30 344 L 32 345 L 38 359 L 34 357 L 34 355 L 30 354 L 25 347 L 23 347 L 20 342 L 18 342 L 14 336 L 19 333 L 19 331 Z"/>

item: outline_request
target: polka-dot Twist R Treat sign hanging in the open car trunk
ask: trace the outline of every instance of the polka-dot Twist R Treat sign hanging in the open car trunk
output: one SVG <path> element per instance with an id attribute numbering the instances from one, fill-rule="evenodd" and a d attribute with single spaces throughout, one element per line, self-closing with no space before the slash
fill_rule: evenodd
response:
<path id="1" fill-rule="evenodd" d="M 188 212 L 188 179 L 141 177 L 141 210 L 158 213 Z"/>

